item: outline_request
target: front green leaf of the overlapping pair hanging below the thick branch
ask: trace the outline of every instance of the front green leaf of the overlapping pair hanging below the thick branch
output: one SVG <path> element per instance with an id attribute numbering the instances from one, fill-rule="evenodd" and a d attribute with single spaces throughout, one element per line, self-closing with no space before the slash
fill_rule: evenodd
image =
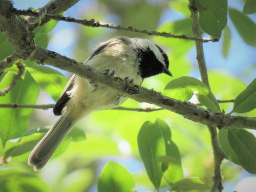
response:
<path id="1" fill-rule="evenodd" d="M 160 128 L 146 121 L 138 134 L 138 146 L 140 157 L 146 168 L 148 178 L 158 189 L 162 179 L 162 163 L 157 162 L 156 158 L 165 156 L 164 137 Z"/>

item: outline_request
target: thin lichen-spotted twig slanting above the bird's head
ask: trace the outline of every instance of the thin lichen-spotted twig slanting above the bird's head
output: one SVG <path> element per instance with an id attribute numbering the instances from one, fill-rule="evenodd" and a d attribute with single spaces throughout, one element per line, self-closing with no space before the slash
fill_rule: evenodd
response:
<path id="1" fill-rule="evenodd" d="M 37 12 L 33 12 L 32 10 L 14 10 L 14 13 L 16 15 L 31 15 L 31 16 L 41 16 Z M 109 28 L 109 29 L 116 29 L 116 30 L 124 30 L 124 31 L 132 31 L 132 32 L 137 32 L 137 33 L 144 33 L 147 35 L 155 35 L 155 36 L 162 36 L 162 37 L 167 37 L 167 38 L 178 38 L 178 39 L 187 39 L 187 40 L 196 40 L 199 42 L 208 42 L 208 41 L 217 41 L 218 39 L 213 39 L 211 37 L 208 38 L 198 38 L 198 37 L 188 37 L 186 35 L 174 35 L 171 33 L 167 32 L 157 32 L 157 31 L 149 31 L 145 29 L 137 29 L 133 27 L 125 27 L 121 25 L 115 25 L 115 24 L 108 24 L 104 22 L 100 22 L 95 19 L 76 19 L 73 17 L 64 17 L 60 15 L 49 15 L 45 14 L 44 18 L 47 19 L 54 19 L 54 20 L 62 20 L 64 22 L 72 22 L 72 23 L 77 23 L 80 25 L 88 26 L 88 27 L 104 27 L 104 28 Z"/>

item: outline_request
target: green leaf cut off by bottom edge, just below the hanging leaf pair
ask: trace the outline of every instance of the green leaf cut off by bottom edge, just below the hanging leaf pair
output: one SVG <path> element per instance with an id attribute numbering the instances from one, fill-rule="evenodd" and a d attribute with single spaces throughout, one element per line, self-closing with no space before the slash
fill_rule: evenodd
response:
<path id="1" fill-rule="evenodd" d="M 177 183 L 174 183 L 173 186 L 171 187 L 171 191 L 176 190 L 176 191 L 190 191 L 190 190 L 209 190 L 210 187 L 203 184 L 202 181 L 197 178 L 187 178 L 183 179 L 181 181 L 178 181 Z"/>

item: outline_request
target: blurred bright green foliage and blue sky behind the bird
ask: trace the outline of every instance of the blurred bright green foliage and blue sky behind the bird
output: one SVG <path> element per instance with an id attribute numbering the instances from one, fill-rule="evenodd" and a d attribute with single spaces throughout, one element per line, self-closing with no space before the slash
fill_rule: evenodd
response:
<path id="1" fill-rule="evenodd" d="M 39 8 L 48 1 L 14 1 L 18 9 L 28 7 Z M 106 23 L 122 24 L 148 30 L 166 31 L 174 34 L 192 36 L 190 12 L 187 1 L 104 1 L 83 0 L 64 13 L 64 16 L 75 18 L 96 18 Z M 243 1 L 228 1 L 228 6 L 242 11 Z M 248 15 L 254 22 L 255 14 Z M 217 99 L 233 99 L 246 84 L 255 78 L 256 57 L 255 47 L 248 46 L 237 33 L 228 18 L 231 31 L 231 47 L 227 56 L 222 54 L 223 37 L 219 43 L 207 42 L 204 44 L 205 58 L 212 92 Z M 89 28 L 76 24 L 58 22 L 49 33 L 48 48 L 62 55 L 69 56 L 78 61 L 84 61 L 95 48 L 97 42 L 105 41 L 114 36 L 143 37 L 156 42 L 168 53 L 170 71 L 174 78 L 193 76 L 200 79 L 196 61 L 194 41 L 152 37 L 143 34 L 115 31 L 103 28 Z M 208 35 L 205 35 L 207 37 Z M 70 77 L 65 71 L 62 74 Z M 171 79 L 166 75 L 159 75 L 146 79 L 142 86 L 154 88 L 163 92 L 165 85 Z M 63 81 L 63 82 L 62 82 Z M 67 80 L 61 82 L 65 85 Z M 49 89 L 55 89 L 49 87 Z M 54 100 L 44 91 L 40 92 L 37 103 L 54 103 Z M 147 103 L 138 103 L 128 99 L 123 106 L 146 107 Z M 221 104 L 226 112 L 232 109 L 232 104 Z M 244 114 L 256 116 L 256 110 Z M 171 128 L 172 139 L 179 147 L 184 177 L 197 176 L 207 184 L 211 183 L 214 166 L 210 136 L 202 124 L 191 122 L 182 116 L 168 112 L 158 111 L 151 113 L 129 112 L 117 110 L 104 110 L 94 112 L 80 120 L 75 127 L 77 133 L 84 133 L 75 140 L 65 141 L 58 150 L 55 158 L 38 173 L 27 165 L 28 153 L 12 157 L 9 164 L 3 167 L 17 167 L 30 173 L 37 174 L 46 182 L 52 191 L 96 191 L 96 182 L 102 167 L 109 161 L 124 165 L 136 183 L 138 191 L 154 191 L 154 186 L 146 176 L 144 166 L 138 153 L 137 135 L 141 125 L 156 118 L 164 119 Z M 58 117 L 54 117 L 51 110 L 34 110 L 30 118 L 29 129 L 52 125 Z M 22 127 L 25 129 L 25 127 Z M 255 134 L 254 134 L 255 135 Z M 1 151 L 1 150 L 0 150 Z M 62 153 L 63 152 L 63 153 Z M 241 166 L 231 162 L 222 163 L 224 177 L 224 190 L 234 190 L 235 186 L 246 177 L 254 177 Z M 254 181 L 256 181 L 254 177 Z M 253 182 L 250 182 L 252 184 Z M 162 182 L 163 188 L 166 184 Z M 248 185 L 248 184 L 245 184 Z"/>

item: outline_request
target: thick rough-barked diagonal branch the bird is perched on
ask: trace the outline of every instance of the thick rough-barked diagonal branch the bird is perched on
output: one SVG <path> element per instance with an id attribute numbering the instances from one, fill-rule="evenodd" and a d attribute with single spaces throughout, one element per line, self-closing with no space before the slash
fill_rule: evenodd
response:
<path id="1" fill-rule="evenodd" d="M 51 66 L 86 78 L 91 83 L 101 84 L 109 87 L 119 95 L 130 97 L 139 102 L 147 102 L 158 105 L 163 109 L 178 113 L 195 122 L 200 122 L 208 126 L 215 126 L 219 128 L 225 127 L 225 129 L 256 129 L 256 118 L 237 117 L 224 115 L 222 113 L 215 113 L 210 110 L 200 108 L 199 106 L 189 102 L 181 102 L 168 98 L 154 90 L 148 90 L 136 84 L 126 84 L 118 77 L 112 78 L 106 76 L 104 73 L 99 72 L 90 66 L 82 65 L 80 62 L 62 56 L 53 51 L 36 47 L 30 59 L 38 63 L 49 63 Z"/>

